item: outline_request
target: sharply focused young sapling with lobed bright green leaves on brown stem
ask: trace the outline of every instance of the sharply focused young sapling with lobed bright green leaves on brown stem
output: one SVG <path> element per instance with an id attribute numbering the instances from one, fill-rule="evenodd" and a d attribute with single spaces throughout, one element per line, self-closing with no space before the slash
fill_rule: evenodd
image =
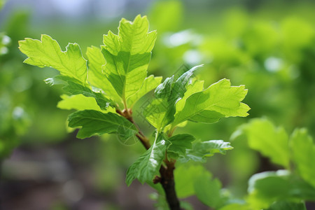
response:
<path id="1" fill-rule="evenodd" d="M 21 52 L 28 56 L 25 63 L 49 66 L 60 72 L 45 81 L 64 85 L 68 96 L 63 97 L 62 107 L 79 110 L 68 118 L 69 127 L 80 128 L 77 137 L 84 139 L 105 133 L 117 134 L 123 141 L 137 137 L 147 151 L 127 170 L 127 185 L 134 179 L 146 182 L 165 195 L 170 209 L 180 209 L 174 176 L 180 183 L 186 183 L 179 185 L 179 197 L 198 195 L 203 186 L 200 180 L 207 181 L 211 176 L 204 169 L 190 167 L 187 170 L 190 178 L 199 182 L 187 184 L 188 174 L 174 175 L 175 163 L 205 162 L 215 153 L 225 154 L 232 146 L 222 140 L 197 141 L 190 134 L 173 135 L 174 130 L 187 120 L 216 123 L 221 118 L 247 116 L 249 107 L 241 103 L 247 90 L 244 85 L 231 86 L 227 79 L 204 89 L 203 81 L 193 78 L 201 66 L 178 78 L 166 78 L 163 83 L 161 77 L 147 77 L 156 36 L 156 31 L 148 32 L 146 16 L 138 15 L 133 22 L 121 20 L 118 35 L 111 31 L 104 35 L 101 49 L 87 48 L 87 60 L 77 43 L 69 43 L 66 51 L 62 51 L 48 35 L 42 35 L 41 41 L 25 38 L 19 44 Z M 155 99 L 141 110 L 155 127 L 153 139 L 149 139 L 134 122 L 132 113 L 134 104 L 153 89 Z M 179 165 L 180 169 L 186 172 L 188 167 Z M 200 172 L 199 179 L 196 170 Z M 220 190 L 218 181 L 211 184 L 216 186 L 215 192 Z M 220 207 L 223 200 L 213 202 Z"/>

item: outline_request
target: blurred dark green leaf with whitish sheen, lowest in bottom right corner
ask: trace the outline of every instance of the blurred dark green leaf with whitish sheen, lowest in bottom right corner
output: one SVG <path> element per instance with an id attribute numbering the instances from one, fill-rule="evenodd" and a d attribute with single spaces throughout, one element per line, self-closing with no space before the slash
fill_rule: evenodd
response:
<path id="1" fill-rule="evenodd" d="M 315 189 L 286 170 L 255 174 L 248 181 L 248 203 L 267 209 L 273 202 L 315 200 Z"/>

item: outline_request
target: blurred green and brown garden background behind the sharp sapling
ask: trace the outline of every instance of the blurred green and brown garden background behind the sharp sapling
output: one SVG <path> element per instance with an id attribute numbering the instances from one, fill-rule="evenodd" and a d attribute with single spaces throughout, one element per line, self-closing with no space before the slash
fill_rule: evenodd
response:
<path id="1" fill-rule="evenodd" d="M 205 80 L 205 87 L 229 78 L 232 85 L 248 89 L 247 118 L 188 123 L 176 133 L 229 141 L 239 125 L 266 116 L 289 133 L 307 127 L 315 137 L 314 1 L 8 0 L 1 6 L 3 209 L 153 209 L 151 188 L 125 185 L 127 168 L 144 152 L 141 144 L 122 144 L 109 135 L 76 139 L 76 132 L 66 128 L 71 111 L 56 107 L 62 90 L 43 81 L 57 71 L 22 63 L 26 57 L 18 41 L 25 37 L 48 34 L 62 50 L 76 42 L 85 53 L 90 45 L 102 45 L 109 30 L 117 33 L 121 18 L 148 15 L 151 30 L 158 31 L 149 74 L 165 78 L 204 64 L 196 77 Z M 149 135 L 153 127 L 141 116 L 145 103 L 138 102 L 135 118 Z M 233 141 L 233 151 L 207 163 L 239 198 L 251 175 L 279 169 L 246 144 Z M 207 209 L 195 197 L 188 201 L 195 209 Z"/>

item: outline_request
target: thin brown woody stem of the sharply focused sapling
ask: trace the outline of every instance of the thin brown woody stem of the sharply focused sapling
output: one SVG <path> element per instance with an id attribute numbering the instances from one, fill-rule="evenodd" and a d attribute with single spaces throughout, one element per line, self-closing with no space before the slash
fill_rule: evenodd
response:
<path id="1" fill-rule="evenodd" d="M 138 134 L 136 134 L 136 137 L 140 140 L 141 144 L 144 145 L 146 150 L 148 150 L 151 147 L 151 144 L 148 140 L 148 138 L 144 135 L 143 132 L 141 132 L 139 126 L 137 123 L 134 122 L 132 118 L 132 110 L 131 109 L 125 109 L 123 111 L 120 111 L 119 109 L 116 109 L 116 112 L 120 114 L 120 116 L 125 117 L 127 120 L 130 120 L 131 123 L 134 124 L 135 127 L 137 127 Z M 174 132 L 174 130 L 173 130 Z M 172 134 L 171 134 L 172 135 Z M 175 183 L 174 183 L 174 165 L 175 162 L 167 160 L 167 157 L 164 160 L 165 165 L 161 165 L 160 167 L 160 174 L 161 177 L 155 177 L 153 180 L 153 183 L 161 183 L 162 188 L 165 191 L 165 195 L 167 198 L 167 203 L 169 204 L 169 209 L 171 210 L 180 210 L 180 204 L 179 199 L 176 195 L 175 191 Z"/>

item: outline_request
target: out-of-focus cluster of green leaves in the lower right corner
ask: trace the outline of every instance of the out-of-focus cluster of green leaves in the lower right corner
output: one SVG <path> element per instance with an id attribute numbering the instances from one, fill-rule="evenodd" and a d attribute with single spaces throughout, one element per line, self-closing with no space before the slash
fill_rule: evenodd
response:
<path id="1" fill-rule="evenodd" d="M 232 139 L 247 139 L 248 146 L 278 165 L 276 172 L 254 174 L 248 181 L 248 195 L 228 209 L 306 209 L 304 202 L 315 201 L 315 144 L 306 129 L 288 136 L 266 118 L 241 125 Z"/>

